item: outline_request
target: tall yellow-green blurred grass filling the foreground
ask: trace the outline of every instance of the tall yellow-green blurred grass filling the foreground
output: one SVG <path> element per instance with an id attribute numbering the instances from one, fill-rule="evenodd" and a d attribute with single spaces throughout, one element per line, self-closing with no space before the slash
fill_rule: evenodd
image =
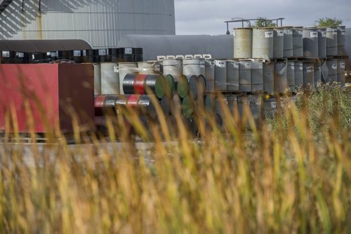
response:
<path id="1" fill-rule="evenodd" d="M 223 109 L 225 131 L 202 112 L 201 142 L 180 116 L 174 134 L 162 118 L 145 130 L 129 113 L 154 143 L 147 152 L 121 119 L 107 121 L 126 142 L 112 151 L 76 134 L 74 149 L 33 144 L 27 165 L 20 146 L 4 144 L 0 233 L 351 233 L 350 92 L 300 93 L 260 128 L 244 110 Z"/>

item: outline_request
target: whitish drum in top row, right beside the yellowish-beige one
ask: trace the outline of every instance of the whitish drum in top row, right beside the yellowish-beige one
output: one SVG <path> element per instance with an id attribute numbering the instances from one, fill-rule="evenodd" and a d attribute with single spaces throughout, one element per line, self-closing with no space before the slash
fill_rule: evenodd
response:
<path id="1" fill-rule="evenodd" d="M 252 33 L 252 57 L 272 58 L 273 57 L 273 29 L 256 28 Z"/>

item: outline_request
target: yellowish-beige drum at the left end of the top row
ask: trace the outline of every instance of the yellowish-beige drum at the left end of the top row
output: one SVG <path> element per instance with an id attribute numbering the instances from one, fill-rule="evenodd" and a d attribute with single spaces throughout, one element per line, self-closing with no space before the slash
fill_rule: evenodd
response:
<path id="1" fill-rule="evenodd" d="M 252 28 L 234 29 L 234 58 L 252 57 Z"/>

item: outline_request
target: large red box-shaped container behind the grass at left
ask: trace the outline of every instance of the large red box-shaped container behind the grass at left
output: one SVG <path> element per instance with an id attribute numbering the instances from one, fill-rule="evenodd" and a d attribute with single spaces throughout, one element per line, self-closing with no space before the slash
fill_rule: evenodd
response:
<path id="1" fill-rule="evenodd" d="M 29 132 L 28 110 L 34 132 L 72 132 L 72 116 L 81 130 L 94 130 L 93 65 L 0 64 L 0 82 L 0 131 L 11 113 L 18 132 Z"/>

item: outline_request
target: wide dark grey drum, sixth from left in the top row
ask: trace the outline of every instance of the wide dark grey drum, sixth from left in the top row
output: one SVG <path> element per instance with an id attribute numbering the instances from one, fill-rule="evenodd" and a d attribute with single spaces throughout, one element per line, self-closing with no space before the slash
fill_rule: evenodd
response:
<path id="1" fill-rule="evenodd" d="M 318 29 L 303 29 L 303 56 L 318 57 Z"/>

